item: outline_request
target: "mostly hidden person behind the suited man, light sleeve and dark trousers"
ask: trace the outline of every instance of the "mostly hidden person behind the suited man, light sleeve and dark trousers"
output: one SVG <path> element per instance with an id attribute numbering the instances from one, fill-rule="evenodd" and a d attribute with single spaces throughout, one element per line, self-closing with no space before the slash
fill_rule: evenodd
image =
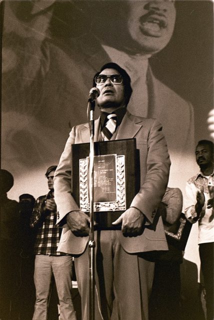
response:
<path id="1" fill-rule="evenodd" d="M 174 228 L 176 230 L 182 204 L 180 189 L 167 187 L 158 207 L 164 229 Z M 180 263 L 182 263 L 182 250 L 169 241 L 167 243 L 168 251 L 161 252 L 158 261 L 155 262 L 149 320 L 181 319 Z"/>

